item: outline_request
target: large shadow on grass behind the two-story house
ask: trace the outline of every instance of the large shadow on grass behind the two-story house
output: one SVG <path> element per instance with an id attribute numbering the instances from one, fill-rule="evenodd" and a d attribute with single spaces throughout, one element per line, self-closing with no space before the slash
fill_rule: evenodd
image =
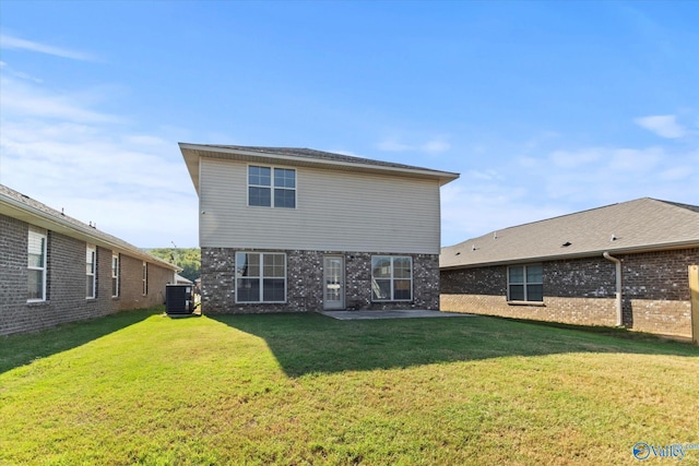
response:
<path id="1" fill-rule="evenodd" d="M 637 339 L 581 327 L 477 316 L 337 321 L 308 314 L 214 315 L 259 336 L 289 377 L 566 353 L 629 353 L 699 357 L 678 342 Z"/>

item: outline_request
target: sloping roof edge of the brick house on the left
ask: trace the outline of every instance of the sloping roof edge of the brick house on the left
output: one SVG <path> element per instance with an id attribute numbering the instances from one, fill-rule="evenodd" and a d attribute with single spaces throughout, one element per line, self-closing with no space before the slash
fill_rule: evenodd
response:
<path id="1" fill-rule="evenodd" d="M 4 184 L 0 184 L 0 214 L 19 218 L 23 222 L 38 225 L 72 238 L 79 238 L 86 242 L 110 248 L 118 252 L 123 252 L 147 262 L 157 263 L 171 270 L 179 270 L 176 265 L 151 255 L 120 238 L 98 230 L 96 227 L 84 224 L 76 218 L 64 215 L 62 212 L 51 208 Z"/>

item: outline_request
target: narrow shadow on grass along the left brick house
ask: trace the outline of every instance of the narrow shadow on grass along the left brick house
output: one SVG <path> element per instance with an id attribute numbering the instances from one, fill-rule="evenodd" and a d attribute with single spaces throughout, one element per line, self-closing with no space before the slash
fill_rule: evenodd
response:
<path id="1" fill-rule="evenodd" d="M 38 358 L 76 348 L 164 310 L 164 307 L 155 307 L 121 311 L 104 318 L 61 324 L 36 333 L 0 336 L 0 373 Z"/>

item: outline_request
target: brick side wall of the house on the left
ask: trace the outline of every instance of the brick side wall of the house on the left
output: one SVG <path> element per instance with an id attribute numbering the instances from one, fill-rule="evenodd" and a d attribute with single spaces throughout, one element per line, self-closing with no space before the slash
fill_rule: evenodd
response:
<path id="1" fill-rule="evenodd" d="M 0 335 L 34 332 L 120 310 L 162 304 L 174 273 L 149 264 L 149 294 L 142 292 L 142 261 L 121 254 L 121 294 L 111 297 L 111 251 L 97 248 L 96 297 L 85 298 L 84 241 L 47 235 L 46 301 L 26 302 L 28 224 L 0 215 Z"/>

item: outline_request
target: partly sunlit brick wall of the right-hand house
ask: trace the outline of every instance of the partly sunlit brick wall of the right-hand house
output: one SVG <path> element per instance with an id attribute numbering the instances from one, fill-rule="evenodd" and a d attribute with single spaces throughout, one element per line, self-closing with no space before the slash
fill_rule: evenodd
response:
<path id="1" fill-rule="evenodd" d="M 614 254 L 613 254 L 614 255 Z M 691 337 L 688 266 L 699 249 L 614 255 L 621 260 L 627 328 Z M 543 262 L 543 306 L 507 302 L 507 266 L 441 272 L 441 309 L 581 325 L 616 324 L 615 264 L 604 258 Z"/>

